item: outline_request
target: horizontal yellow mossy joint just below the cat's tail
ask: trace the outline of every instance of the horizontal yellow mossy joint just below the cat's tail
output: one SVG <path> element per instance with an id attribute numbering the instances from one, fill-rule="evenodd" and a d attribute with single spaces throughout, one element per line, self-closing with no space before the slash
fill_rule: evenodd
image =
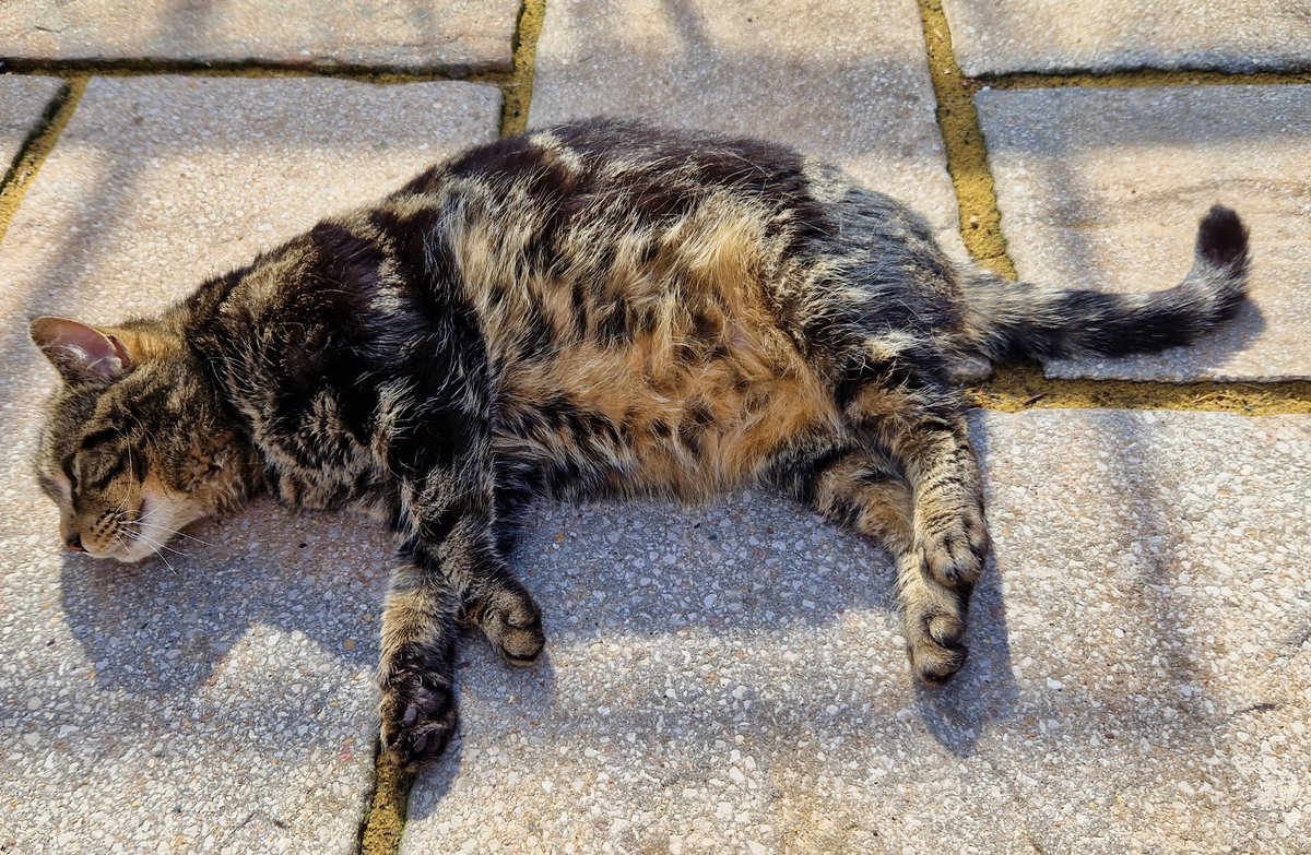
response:
<path id="1" fill-rule="evenodd" d="M 1051 380 L 1036 365 L 1006 366 L 965 392 L 983 409 L 1173 409 L 1240 416 L 1311 413 L 1311 382 L 1159 383 L 1139 380 Z"/>

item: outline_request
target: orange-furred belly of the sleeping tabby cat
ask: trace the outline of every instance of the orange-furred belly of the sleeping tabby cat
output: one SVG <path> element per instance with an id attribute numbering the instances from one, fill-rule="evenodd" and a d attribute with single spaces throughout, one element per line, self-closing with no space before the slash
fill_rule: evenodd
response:
<path id="1" fill-rule="evenodd" d="M 791 340 L 732 321 L 713 336 L 585 342 L 510 366 L 497 400 L 497 454 L 555 488 L 684 501 L 750 480 L 773 452 L 840 421 Z"/>

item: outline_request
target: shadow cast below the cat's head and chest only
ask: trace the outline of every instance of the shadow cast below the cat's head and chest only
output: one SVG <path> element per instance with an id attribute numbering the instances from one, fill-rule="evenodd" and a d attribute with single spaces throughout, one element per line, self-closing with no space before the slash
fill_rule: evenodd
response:
<path id="1" fill-rule="evenodd" d="M 273 633 L 372 671 L 391 564 L 379 527 L 260 501 L 186 535 L 134 565 L 64 557 L 66 619 L 98 688 L 193 696 Z"/>

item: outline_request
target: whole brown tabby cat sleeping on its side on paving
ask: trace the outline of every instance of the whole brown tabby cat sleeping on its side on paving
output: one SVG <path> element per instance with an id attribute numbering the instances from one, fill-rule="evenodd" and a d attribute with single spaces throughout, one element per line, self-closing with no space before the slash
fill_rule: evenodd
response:
<path id="1" fill-rule="evenodd" d="M 590 119 L 479 146 L 155 319 L 43 316 L 62 375 L 41 487 L 68 548 L 138 561 L 271 489 L 385 519 L 382 740 L 456 724 L 461 622 L 514 665 L 541 615 L 507 564 L 540 494 L 697 501 L 775 484 L 882 542 L 915 675 L 965 660 L 988 548 L 953 378 L 1183 345 L 1244 299 L 1215 206 L 1169 290 L 1012 282 L 788 148 Z"/>

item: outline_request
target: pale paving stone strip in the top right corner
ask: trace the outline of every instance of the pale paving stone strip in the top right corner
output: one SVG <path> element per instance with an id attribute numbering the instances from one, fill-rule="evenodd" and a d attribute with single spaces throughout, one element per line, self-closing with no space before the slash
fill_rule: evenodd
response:
<path id="1" fill-rule="evenodd" d="M 1311 66 L 1303 0 L 943 0 L 966 75 Z"/>

